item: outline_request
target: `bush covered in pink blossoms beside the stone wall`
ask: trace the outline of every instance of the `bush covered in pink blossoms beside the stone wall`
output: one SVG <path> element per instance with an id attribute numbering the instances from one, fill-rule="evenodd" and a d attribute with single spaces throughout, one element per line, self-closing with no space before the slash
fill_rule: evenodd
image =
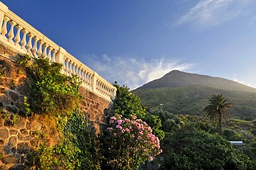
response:
<path id="1" fill-rule="evenodd" d="M 102 142 L 104 169 L 138 169 L 161 153 L 160 142 L 151 127 L 136 116 L 132 120 L 112 116 Z"/>

